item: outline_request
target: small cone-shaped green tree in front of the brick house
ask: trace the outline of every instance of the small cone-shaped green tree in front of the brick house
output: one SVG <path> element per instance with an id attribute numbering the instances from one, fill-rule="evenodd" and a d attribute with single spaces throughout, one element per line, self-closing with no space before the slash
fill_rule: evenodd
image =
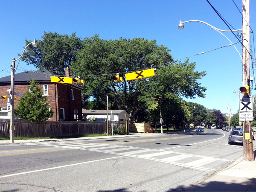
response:
<path id="1" fill-rule="evenodd" d="M 50 109 L 47 97 L 43 96 L 38 82 L 33 79 L 29 83 L 29 90 L 26 90 L 23 97 L 19 99 L 14 113 L 21 119 L 38 123 L 44 122 L 52 117 L 53 111 Z"/>

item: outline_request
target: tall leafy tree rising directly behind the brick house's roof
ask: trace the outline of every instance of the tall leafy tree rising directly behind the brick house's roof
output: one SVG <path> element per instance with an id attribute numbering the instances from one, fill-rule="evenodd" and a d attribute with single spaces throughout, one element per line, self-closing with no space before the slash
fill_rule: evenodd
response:
<path id="1" fill-rule="evenodd" d="M 31 41 L 26 40 L 26 44 Z M 72 35 L 60 35 L 44 32 L 42 40 L 37 40 L 38 48 L 27 48 L 22 60 L 40 70 L 49 70 L 57 75 L 64 75 L 65 68 L 75 61 L 76 52 L 81 48 L 82 41 Z"/>

